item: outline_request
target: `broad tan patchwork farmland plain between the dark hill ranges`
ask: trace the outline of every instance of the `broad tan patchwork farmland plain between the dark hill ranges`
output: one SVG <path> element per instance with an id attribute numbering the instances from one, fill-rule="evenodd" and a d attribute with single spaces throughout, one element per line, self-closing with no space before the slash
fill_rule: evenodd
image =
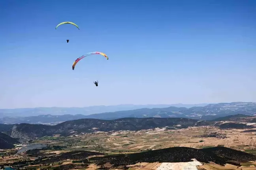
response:
<path id="1" fill-rule="evenodd" d="M 221 130 L 217 127 L 191 127 L 180 130 L 155 129 L 145 131 L 98 132 L 70 137 L 44 137 L 33 142 L 67 147 L 65 150 L 133 153 L 174 146 L 205 148 L 225 146 L 254 153 L 255 133 L 242 133 L 245 129 Z M 215 134 L 214 134 L 215 133 Z M 212 135 L 213 137 L 209 137 Z M 255 150 L 256 151 L 256 150 Z"/>

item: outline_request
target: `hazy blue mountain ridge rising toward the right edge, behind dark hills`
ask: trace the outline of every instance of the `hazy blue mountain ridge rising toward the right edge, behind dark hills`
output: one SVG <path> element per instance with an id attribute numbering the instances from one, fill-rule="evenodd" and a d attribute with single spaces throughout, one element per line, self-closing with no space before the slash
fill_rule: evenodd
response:
<path id="1" fill-rule="evenodd" d="M 255 115 L 256 103 L 253 102 L 232 102 L 208 104 L 203 107 L 167 107 L 152 109 L 136 109 L 130 111 L 117 111 L 112 113 L 100 113 L 88 115 L 87 118 L 98 118 L 111 120 L 124 117 L 179 117 L 179 118 L 195 118 L 198 120 L 212 120 L 214 118 L 228 115 Z"/>

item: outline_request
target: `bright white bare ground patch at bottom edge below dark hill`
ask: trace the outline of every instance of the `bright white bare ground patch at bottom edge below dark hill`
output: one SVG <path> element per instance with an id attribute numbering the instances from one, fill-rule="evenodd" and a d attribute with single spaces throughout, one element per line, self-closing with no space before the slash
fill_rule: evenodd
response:
<path id="1" fill-rule="evenodd" d="M 196 159 L 191 162 L 162 163 L 156 170 L 198 170 L 197 165 L 202 165 Z"/>

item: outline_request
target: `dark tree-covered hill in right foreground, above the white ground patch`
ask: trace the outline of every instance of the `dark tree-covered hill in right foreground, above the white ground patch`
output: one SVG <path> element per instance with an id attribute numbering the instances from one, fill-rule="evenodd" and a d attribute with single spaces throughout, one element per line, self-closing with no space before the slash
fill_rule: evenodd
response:
<path id="1" fill-rule="evenodd" d="M 112 164 L 113 168 L 118 166 L 126 166 L 139 162 L 189 162 L 196 159 L 203 163 L 210 161 L 224 165 L 226 161 L 254 161 L 256 156 L 225 147 L 213 147 L 206 149 L 195 149 L 187 147 L 173 147 L 160 150 L 152 150 L 140 153 L 108 155 L 104 157 L 93 157 L 84 162 L 96 163 L 103 165 L 104 163 Z"/>

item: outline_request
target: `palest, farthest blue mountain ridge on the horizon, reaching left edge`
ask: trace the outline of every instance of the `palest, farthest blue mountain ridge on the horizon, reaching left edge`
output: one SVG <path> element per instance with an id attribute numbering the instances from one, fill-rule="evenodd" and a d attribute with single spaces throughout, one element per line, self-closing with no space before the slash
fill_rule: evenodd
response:
<path id="1" fill-rule="evenodd" d="M 205 106 L 202 104 L 148 104 L 148 105 L 99 105 L 88 107 L 36 107 L 36 108 L 21 108 L 21 109 L 0 109 L 0 118 L 5 116 L 38 116 L 38 115 L 91 115 L 96 113 L 115 112 L 123 110 L 141 109 L 141 108 L 163 108 L 163 107 L 195 107 Z"/>

